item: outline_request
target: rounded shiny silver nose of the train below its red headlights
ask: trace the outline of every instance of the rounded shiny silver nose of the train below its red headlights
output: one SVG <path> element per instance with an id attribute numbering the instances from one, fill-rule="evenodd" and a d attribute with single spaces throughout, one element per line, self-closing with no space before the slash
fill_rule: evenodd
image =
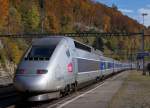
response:
<path id="1" fill-rule="evenodd" d="M 16 75 L 14 86 L 21 92 L 43 92 L 46 91 L 46 75 Z"/>

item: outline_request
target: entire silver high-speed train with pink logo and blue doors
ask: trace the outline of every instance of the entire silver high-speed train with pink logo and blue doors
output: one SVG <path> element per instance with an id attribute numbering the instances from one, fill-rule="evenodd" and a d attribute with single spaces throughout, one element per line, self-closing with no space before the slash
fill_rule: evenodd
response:
<path id="1" fill-rule="evenodd" d="M 69 37 L 41 38 L 22 58 L 14 85 L 20 92 L 36 94 L 31 100 L 40 101 L 130 67 L 130 63 L 104 57 L 100 51 Z"/>

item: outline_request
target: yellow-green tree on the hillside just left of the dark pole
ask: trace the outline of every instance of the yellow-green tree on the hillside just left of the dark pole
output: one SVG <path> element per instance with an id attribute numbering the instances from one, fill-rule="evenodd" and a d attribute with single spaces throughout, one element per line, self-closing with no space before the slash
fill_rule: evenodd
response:
<path id="1" fill-rule="evenodd" d="M 38 32 L 40 27 L 40 13 L 37 4 L 24 1 L 20 6 L 20 11 L 22 14 L 24 32 Z"/>

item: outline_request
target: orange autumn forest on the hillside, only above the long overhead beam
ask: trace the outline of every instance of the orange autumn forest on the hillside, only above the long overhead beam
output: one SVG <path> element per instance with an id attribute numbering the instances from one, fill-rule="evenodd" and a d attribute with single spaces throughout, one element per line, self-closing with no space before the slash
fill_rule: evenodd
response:
<path id="1" fill-rule="evenodd" d="M 39 1 L 0 0 L 0 32 L 40 32 L 41 6 Z M 93 0 L 44 1 L 44 12 L 42 12 L 44 31 L 48 33 L 82 31 L 84 30 L 82 25 L 106 32 L 134 32 L 142 28 L 142 25 L 124 16 L 115 6 L 107 7 Z"/>

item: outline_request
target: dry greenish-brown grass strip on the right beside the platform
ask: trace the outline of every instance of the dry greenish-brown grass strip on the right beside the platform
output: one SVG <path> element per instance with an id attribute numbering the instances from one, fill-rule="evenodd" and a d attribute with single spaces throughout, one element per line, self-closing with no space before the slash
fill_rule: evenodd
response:
<path id="1" fill-rule="evenodd" d="M 109 102 L 109 108 L 150 108 L 150 76 L 131 71 Z"/>

